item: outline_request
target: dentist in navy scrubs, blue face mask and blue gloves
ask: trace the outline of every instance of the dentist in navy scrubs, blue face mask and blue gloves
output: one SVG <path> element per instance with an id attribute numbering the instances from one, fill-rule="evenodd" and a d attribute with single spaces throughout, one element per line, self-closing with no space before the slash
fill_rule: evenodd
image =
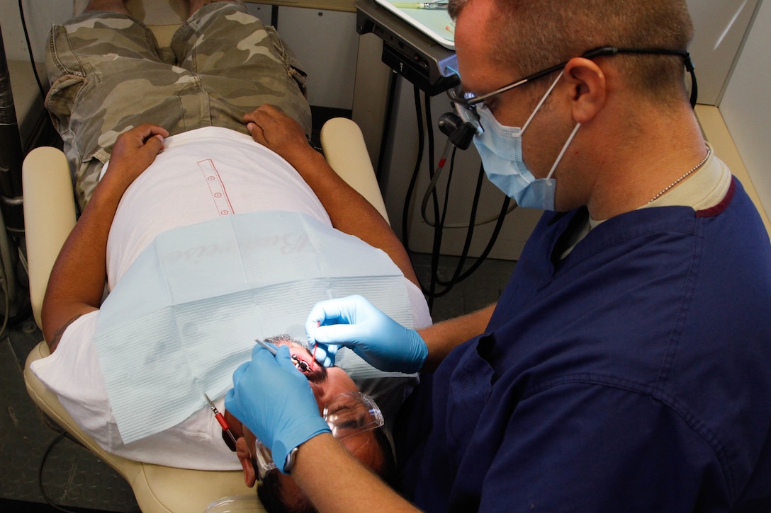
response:
<path id="1" fill-rule="evenodd" d="M 286 351 L 255 348 L 228 411 L 319 511 L 771 511 L 771 246 L 695 119 L 685 1 L 450 15 L 487 176 L 545 212 L 476 314 L 417 332 L 360 297 L 311 311 L 323 364 L 352 347 L 423 372 L 401 489 L 345 454 Z"/>

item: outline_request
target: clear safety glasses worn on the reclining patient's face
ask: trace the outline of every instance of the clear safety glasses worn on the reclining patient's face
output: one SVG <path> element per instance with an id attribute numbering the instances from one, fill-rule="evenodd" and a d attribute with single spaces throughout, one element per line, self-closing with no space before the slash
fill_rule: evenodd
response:
<path id="1" fill-rule="evenodd" d="M 332 397 L 322 410 L 322 417 L 338 441 L 381 428 L 385 423 L 382 411 L 372 397 L 361 392 L 347 392 Z M 258 477 L 262 479 L 276 468 L 276 464 L 270 449 L 259 440 L 255 445 L 257 454 L 254 459 L 257 461 Z"/>

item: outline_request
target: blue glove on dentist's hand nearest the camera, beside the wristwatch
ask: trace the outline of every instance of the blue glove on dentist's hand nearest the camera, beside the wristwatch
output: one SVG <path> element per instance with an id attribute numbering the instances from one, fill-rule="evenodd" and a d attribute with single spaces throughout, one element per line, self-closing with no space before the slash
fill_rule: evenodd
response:
<path id="1" fill-rule="evenodd" d="M 270 351 L 255 345 L 251 361 L 233 373 L 225 396 L 227 411 L 268 448 L 281 472 L 289 451 L 317 434 L 329 433 L 305 374 L 295 368 L 289 348 Z"/>

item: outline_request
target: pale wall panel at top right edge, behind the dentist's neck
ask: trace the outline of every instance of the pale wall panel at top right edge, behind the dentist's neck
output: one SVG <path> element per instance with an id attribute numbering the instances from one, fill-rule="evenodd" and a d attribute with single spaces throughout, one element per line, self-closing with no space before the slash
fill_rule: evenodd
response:
<path id="1" fill-rule="evenodd" d="M 766 213 L 771 215 L 771 2 L 752 25 L 719 109 Z"/>

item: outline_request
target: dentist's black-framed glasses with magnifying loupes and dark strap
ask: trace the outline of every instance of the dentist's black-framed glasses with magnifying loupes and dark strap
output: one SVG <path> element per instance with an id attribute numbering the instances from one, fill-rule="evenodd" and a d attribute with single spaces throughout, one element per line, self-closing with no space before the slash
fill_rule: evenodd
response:
<path id="1" fill-rule="evenodd" d="M 596 59 L 598 57 L 606 57 L 606 56 L 616 55 L 619 53 L 651 54 L 651 55 L 680 55 L 685 61 L 686 71 L 691 73 L 691 78 L 692 78 L 691 103 L 692 105 L 695 104 L 696 77 L 693 72 L 693 69 L 694 69 L 693 63 L 691 62 L 691 55 L 689 54 L 689 52 L 685 52 L 682 50 L 636 49 L 636 48 L 616 48 L 614 46 L 601 46 L 599 48 L 588 50 L 588 52 L 584 52 L 583 54 L 581 54 L 581 57 L 583 57 L 584 59 Z M 483 94 L 480 96 L 476 96 L 475 94 L 473 94 L 473 92 L 463 91 L 463 86 L 460 86 L 460 85 L 454 87 L 453 89 L 449 89 L 447 91 L 447 95 L 449 96 L 449 99 L 455 104 L 456 109 L 458 110 L 458 114 L 461 117 L 461 119 L 463 119 L 463 121 L 475 120 L 478 123 L 479 116 L 476 114 L 477 105 L 484 102 L 486 99 L 492 98 L 493 96 L 500 95 L 502 92 L 510 91 L 515 87 L 519 87 L 524 84 L 527 84 L 527 82 L 533 82 L 536 79 L 540 79 L 541 77 L 557 72 L 563 69 L 565 65 L 567 65 L 567 62 L 569 61 L 560 62 L 559 64 L 553 65 L 550 68 L 542 69 L 539 72 L 535 72 L 532 75 L 527 75 L 526 77 L 523 77 L 519 80 L 515 80 L 514 82 L 511 82 L 506 86 L 500 87 L 499 89 L 496 89 L 491 92 L 487 92 L 486 94 Z M 465 111 L 465 112 L 462 112 L 462 111 Z"/>

